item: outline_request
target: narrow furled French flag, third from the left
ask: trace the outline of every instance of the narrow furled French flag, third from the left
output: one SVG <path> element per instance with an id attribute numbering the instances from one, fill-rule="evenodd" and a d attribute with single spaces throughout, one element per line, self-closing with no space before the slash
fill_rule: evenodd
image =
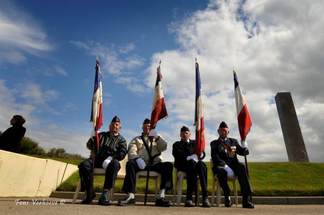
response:
<path id="1" fill-rule="evenodd" d="M 198 63 L 196 63 L 196 99 L 194 121 L 196 128 L 195 154 L 200 157 L 201 153 L 203 153 L 205 149 L 205 134 L 203 99 L 201 98 L 201 82 Z"/>

